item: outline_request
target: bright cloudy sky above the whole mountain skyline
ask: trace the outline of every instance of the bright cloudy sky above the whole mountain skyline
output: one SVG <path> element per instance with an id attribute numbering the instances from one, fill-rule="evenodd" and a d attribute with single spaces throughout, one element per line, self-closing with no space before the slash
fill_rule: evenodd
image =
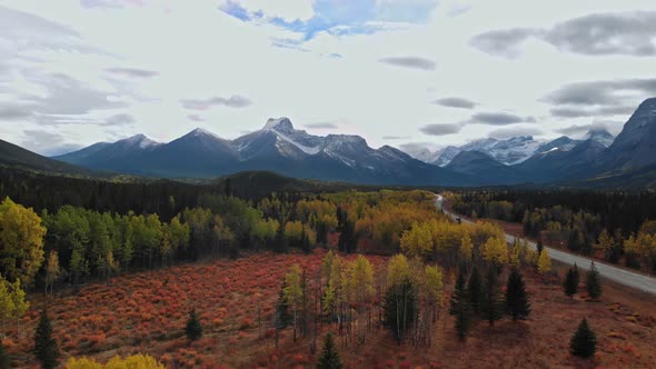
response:
<path id="1" fill-rule="evenodd" d="M 654 66 L 654 0 L 0 0 L 0 138 L 578 138 L 618 133 Z"/>

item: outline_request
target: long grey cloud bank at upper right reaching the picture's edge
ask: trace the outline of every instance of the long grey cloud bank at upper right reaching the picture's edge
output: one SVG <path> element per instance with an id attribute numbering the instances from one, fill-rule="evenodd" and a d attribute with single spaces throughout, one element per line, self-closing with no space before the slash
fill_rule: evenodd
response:
<path id="1" fill-rule="evenodd" d="M 494 30 L 475 36 L 470 44 L 489 54 L 513 58 L 529 38 L 586 56 L 652 57 L 656 56 L 656 11 L 590 13 L 549 29 Z"/>

